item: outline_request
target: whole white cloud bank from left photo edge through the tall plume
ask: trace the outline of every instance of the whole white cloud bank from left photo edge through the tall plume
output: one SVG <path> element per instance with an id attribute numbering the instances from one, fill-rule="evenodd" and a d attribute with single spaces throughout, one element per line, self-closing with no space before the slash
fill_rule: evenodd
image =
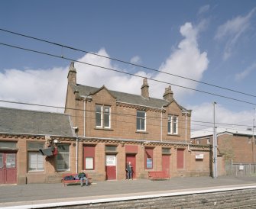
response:
<path id="1" fill-rule="evenodd" d="M 170 72 L 191 79 L 202 79 L 203 72 L 206 71 L 209 60 L 205 52 L 201 53 L 197 43 L 197 34 L 199 29 L 193 27 L 191 23 L 186 23 L 180 27 L 180 34 L 183 40 L 180 41 L 176 50 L 160 66 L 160 71 Z M 171 47 L 171 46 L 170 46 Z M 103 56 L 109 56 L 105 49 L 98 52 Z M 139 57 L 135 61 L 139 61 Z M 86 54 L 78 59 L 83 63 L 92 63 L 97 66 L 104 66 L 109 69 L 124 71 L 115 66 L 111 59 L 102 56 Z M 100 87 L 105 85 L 109 89 L 120 92 L 128 92 L 140 95 L 142 78 L 128 76 L 119 72 L 101 69 L 96 66 L 89 66 L 83 63 L 76 63 L 77 82 L 83 85 Z M 66 96 L 66 76 L 68 66 L 65 68 L 53 69 L 6 69 L 0 73 L 0 98 L 15 101 L 28 101 L 37 104 L 59 105 L 63 106 Z M 177 77 L 167 76 L 163 73 L 157 75 L 149 74 L 143 71 L 136 73 L 138 76 L 157 79 L 168 83 L 175 83 L 190 88 L 196 88 L 197 83 L 186 79 L 177 79 Z M 148 81 L 150 85 L 150 96 L 162 98 L 164 89 L 169 84 Z M 182 98 L 189 92 L 184 88 L 172 86 L 174 97 Z"/>

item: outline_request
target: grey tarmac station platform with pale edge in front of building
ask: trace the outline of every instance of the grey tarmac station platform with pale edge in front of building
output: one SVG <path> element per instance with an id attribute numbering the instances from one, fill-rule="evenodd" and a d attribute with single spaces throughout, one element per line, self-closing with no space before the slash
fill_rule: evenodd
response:
<path id="1" fill-rule="evenodd" d="M 180 177 L 164 181 L 147 179 L 94 182 L 81 187 L 58 184 L 0 185 L 0 208 L 21 208 L 31 204 L 47 204 L 107 198 L 125 198 L 140 195 L 156 195 L 177 191 L 199 191 L 255 187 L 256 177 Z M 29 208 L 29 207 L 23 207 Z"/>

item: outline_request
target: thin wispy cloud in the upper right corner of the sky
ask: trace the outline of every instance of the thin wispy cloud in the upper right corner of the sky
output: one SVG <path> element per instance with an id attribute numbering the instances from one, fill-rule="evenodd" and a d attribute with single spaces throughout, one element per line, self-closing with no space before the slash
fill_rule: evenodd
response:
<path id="1" fill-rule="evenodd" d="M 224 60 L 232 56 L 232 50 L 235 43 L 238 42 L 241 34 L 245 34 L 245 31 L 248 30 L 248 27 L 251 24 L 251 17 L 255 11 L 256 8 L 253 8 L 247 15 L 232 18 L 232 20 L 228 20 L 225 24 L 218 27 L 215 34 L 215 40 L 223 40 L 226 38 L 227 41 L 223 53 Z"/>

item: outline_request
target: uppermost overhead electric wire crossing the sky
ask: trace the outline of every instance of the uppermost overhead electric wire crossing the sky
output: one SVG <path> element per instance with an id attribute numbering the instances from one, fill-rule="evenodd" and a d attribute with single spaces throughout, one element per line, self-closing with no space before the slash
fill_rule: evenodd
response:
<path id="1" fill-rule="evenodd" d="M 33 39 L 33 40 L 39 40 L 39 41 L 42 41 L 44 43 L 50 43 L 50 44 L 56 45 L 58 47 L 65 47 L 66 49 L 70 49 L 70 50 L 76 50 L 76 51 L 83 52 L 83 53 L 89 53 L 89 54 L 92 54 L 94 56 L 100 56 L 100 57 L 103 57 L 105 59 L 111 59 L 111 60 L 117 61 L 119 63 L 125 63 L 125 64 L 128 64 L 128 65 L 137 66 L 137 67 L 140 67 L 140 68 L 143 68 L 143 69 L 149 69 L 149 70 L 154 71 L 154 72 L 160 72 L 160 73 L 164 73 L 164 74 L 167 74 L 167 75 L 170 75 L 170 76 L 176 76 L 180 79 L 186 79 L 186 80 L 190 80 L 190 81 L 193 81 L 193 82 L 199 82 L 199 83 L 204 84 L 204 85 L 210 85 L 210 86 L 215 87 L 215 88 L 221 88 L 221 89 L 224 89 L 226 91 L 235 92 L 235 93 L 238 93 L 238 94 L 241 94 L 241 95 L 248 95 L 248 96 L 251 96 L 251 97 L 256 97 L 256 95 L 251 95 L 251 94 L 248 94 L 248 93 L 245 93 L 245 92 L 239 92 L 239 91 L 231 89 L 231 88 L 225 88 L 225 87 L 222 87 L 222 86 L 219 86 L 219 85 L 214 85 L 214 84 L 207 83 L 207 82 L 201 82 L 201 81 L 196 80 L 196 79 L 186 78 L 184 76 L 179 76 L 179 75 L 176 75 L 176 74 L 173 74 L 173 73 L 170 73 L 170 72 L 164 72 L 164 71 L 153 69 L 153 68 L 150 68 L 150 67 L 147 67 L 147 66 L 141 66 L 141 65 L 138 65 L 138 64 L 130 63 L 130 62 L 127 62 L 127 61 L 124 61 L 124 60 L 121 60 L 121 59 L 116 59 L 116 58 L 112 58 L 112 57 L 109 57 L 109 56 L 103 56 L 103 55 L 100 55 L 100 54 L 97 54 L 97 53 L 92 53 L 92 52 L 89 52 L 87 50 L 80 50 L 80 49 L 77 49 L 75 47 L 69 47 L 69 46 L 66 46 L 64 44 L 56 43 L 56 42 L 53 42 L 53 41 L 50 41 L 50 40 L 44 40 L 44 39 L 37 38 L 37 37 L 31 37 L 31 36 L 28 36 L 28 35 L 25 35 L 25 34 L 20 34 L 20 33 L 14 32 L 14 31 L 8 31 L 8 30 L 5 30 L 3 28 L 0 28 L 0 31 L 4 31 L 4 32 L 10 33 L 10 34 L 15 34 L 15 35 L 18 35 L 18 36 L 21 36 L 21 37 L 27 37 L 27 38 L 30 38 L 30 39 Z"/>

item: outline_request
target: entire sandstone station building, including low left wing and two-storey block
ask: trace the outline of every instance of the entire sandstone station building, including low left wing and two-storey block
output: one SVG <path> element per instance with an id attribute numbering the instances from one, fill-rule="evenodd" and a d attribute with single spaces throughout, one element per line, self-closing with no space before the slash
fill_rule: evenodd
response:
<path id="1" fill-rule="evenodd" d="M 0 119 L 0 178 L 12 167 L 18 184 L 60 182 L 63 174 L 80 171 L 93 181 L 119 180 L 126 178 L 127 162 L 133 178 L 148 178 L 149 171 L 211 174 L 211 146 L 190 143 L 191 111 L 177 103 L 170 86 L 158 99 L 149 96 L 147 79 L 141 95 L 79 85 L 74 63 L 67 79 L 64 114 L 0 108 L 12 118 L 9 124 Z M 38 150 L 48 146 L 57 152 L 42 156 Z"/>

